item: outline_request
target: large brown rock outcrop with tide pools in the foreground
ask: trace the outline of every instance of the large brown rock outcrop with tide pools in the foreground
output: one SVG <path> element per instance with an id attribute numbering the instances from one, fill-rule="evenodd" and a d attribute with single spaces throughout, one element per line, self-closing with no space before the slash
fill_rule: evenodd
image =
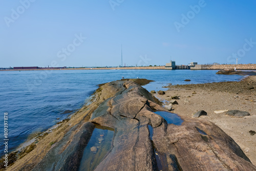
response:
<path id="1" fill-rule="evenodd" d="M 39 141 L 8 170 L 78 170 L 81 158 L 89 155 L 83 154 L 83 149 L 95 124 L 115 131 L 111 150 L 95 170 L 256 169 L 217 125 L 184 117 L 181 125 L 169 124 L 154 111 L 166 110 L 137 83 L 102 84 L 90 105 Z M 49 146 L 51 141 L 54 144 Z"/>

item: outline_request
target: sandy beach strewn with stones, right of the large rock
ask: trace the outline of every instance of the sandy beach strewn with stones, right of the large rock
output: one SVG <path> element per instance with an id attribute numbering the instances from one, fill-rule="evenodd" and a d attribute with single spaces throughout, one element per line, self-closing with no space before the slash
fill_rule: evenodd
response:
<path id="1" fill-rule="evenodd" d="M 175 95 L 179 96 L 176 99 L 179 104 L 173 105 L 172 113 L 191 117 L 200 110 L 206 111 L 207 116 L 197 119 L 206 119 L 218 125 L 256 165 L 256 134 L 249 133 L 256 131 L 256 76 L 246 77 L 239 82 L 170 85 L 164 95 L 155 94 L 167 100 L 167 104 Z M 250 116 L 236 118 L 226 113 L 216 114 L 217 110 L 246 111 Z"/>

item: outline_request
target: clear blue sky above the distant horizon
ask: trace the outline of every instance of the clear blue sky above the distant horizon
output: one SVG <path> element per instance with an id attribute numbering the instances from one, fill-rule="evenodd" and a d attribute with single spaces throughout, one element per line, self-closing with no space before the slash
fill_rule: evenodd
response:
<path id="1" fill-rule="evenodd" d="M 256 1 L 30 1 L 0 0 L 0 67 L 256 63 Z"/>

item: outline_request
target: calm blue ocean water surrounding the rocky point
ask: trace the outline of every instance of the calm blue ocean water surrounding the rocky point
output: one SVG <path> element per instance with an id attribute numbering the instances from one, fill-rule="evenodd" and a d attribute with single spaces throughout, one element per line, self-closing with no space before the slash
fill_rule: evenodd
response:
<path id="1" fill-rule="evenodd" d="M 81 108 L 97 84 L 124 78 L 155 80 L 148 91 L 166 90 L 167 83 L 190 84 L 238 81 L 242 76 L 216 75 L 214 70 L 57 70 L 0 72 L 0 132 L 4 140 L 4 113 L 8 113 L 8 148 L 11 151 L 29 135 L 42 132 Z M 190 79 L 190 82 L 184 81 Z M 60 118 L 57 120 L 57 118 Z M 1 130 L 1 129 L 0 129 Z M 0 155 L 4 144 L 0 143 Z M 10 152 L 9 151 L 9 152 Z"/>

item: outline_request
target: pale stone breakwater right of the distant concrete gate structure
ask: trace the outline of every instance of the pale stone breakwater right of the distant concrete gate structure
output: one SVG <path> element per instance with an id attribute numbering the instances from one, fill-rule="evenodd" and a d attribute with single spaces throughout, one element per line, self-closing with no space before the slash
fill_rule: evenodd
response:
<path id="1" fill-rule="evenodd" d="M 237 70 L 256 70 L 256 64 L 231 64 L 231 65 L 214 65 L 209 70 L 233 70 L 236 67 Z"/>

